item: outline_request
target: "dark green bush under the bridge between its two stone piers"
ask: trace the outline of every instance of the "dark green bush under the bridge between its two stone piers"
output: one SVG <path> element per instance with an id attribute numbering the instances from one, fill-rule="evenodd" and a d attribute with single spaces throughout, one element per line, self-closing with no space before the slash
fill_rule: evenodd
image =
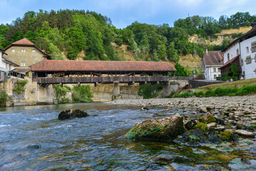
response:
<path id="1" fill-rule="evenodd" d="M 160 83 L 156 85 L 151 85 L 151 83 L 146 83 L 145 85 L 140 86 L 140 88 L 138 89 L 138 95 L 143 96 L 144 99 L 153 98 L 154 92 L 162 89 L 163 89 L 163 85 Z"/>

